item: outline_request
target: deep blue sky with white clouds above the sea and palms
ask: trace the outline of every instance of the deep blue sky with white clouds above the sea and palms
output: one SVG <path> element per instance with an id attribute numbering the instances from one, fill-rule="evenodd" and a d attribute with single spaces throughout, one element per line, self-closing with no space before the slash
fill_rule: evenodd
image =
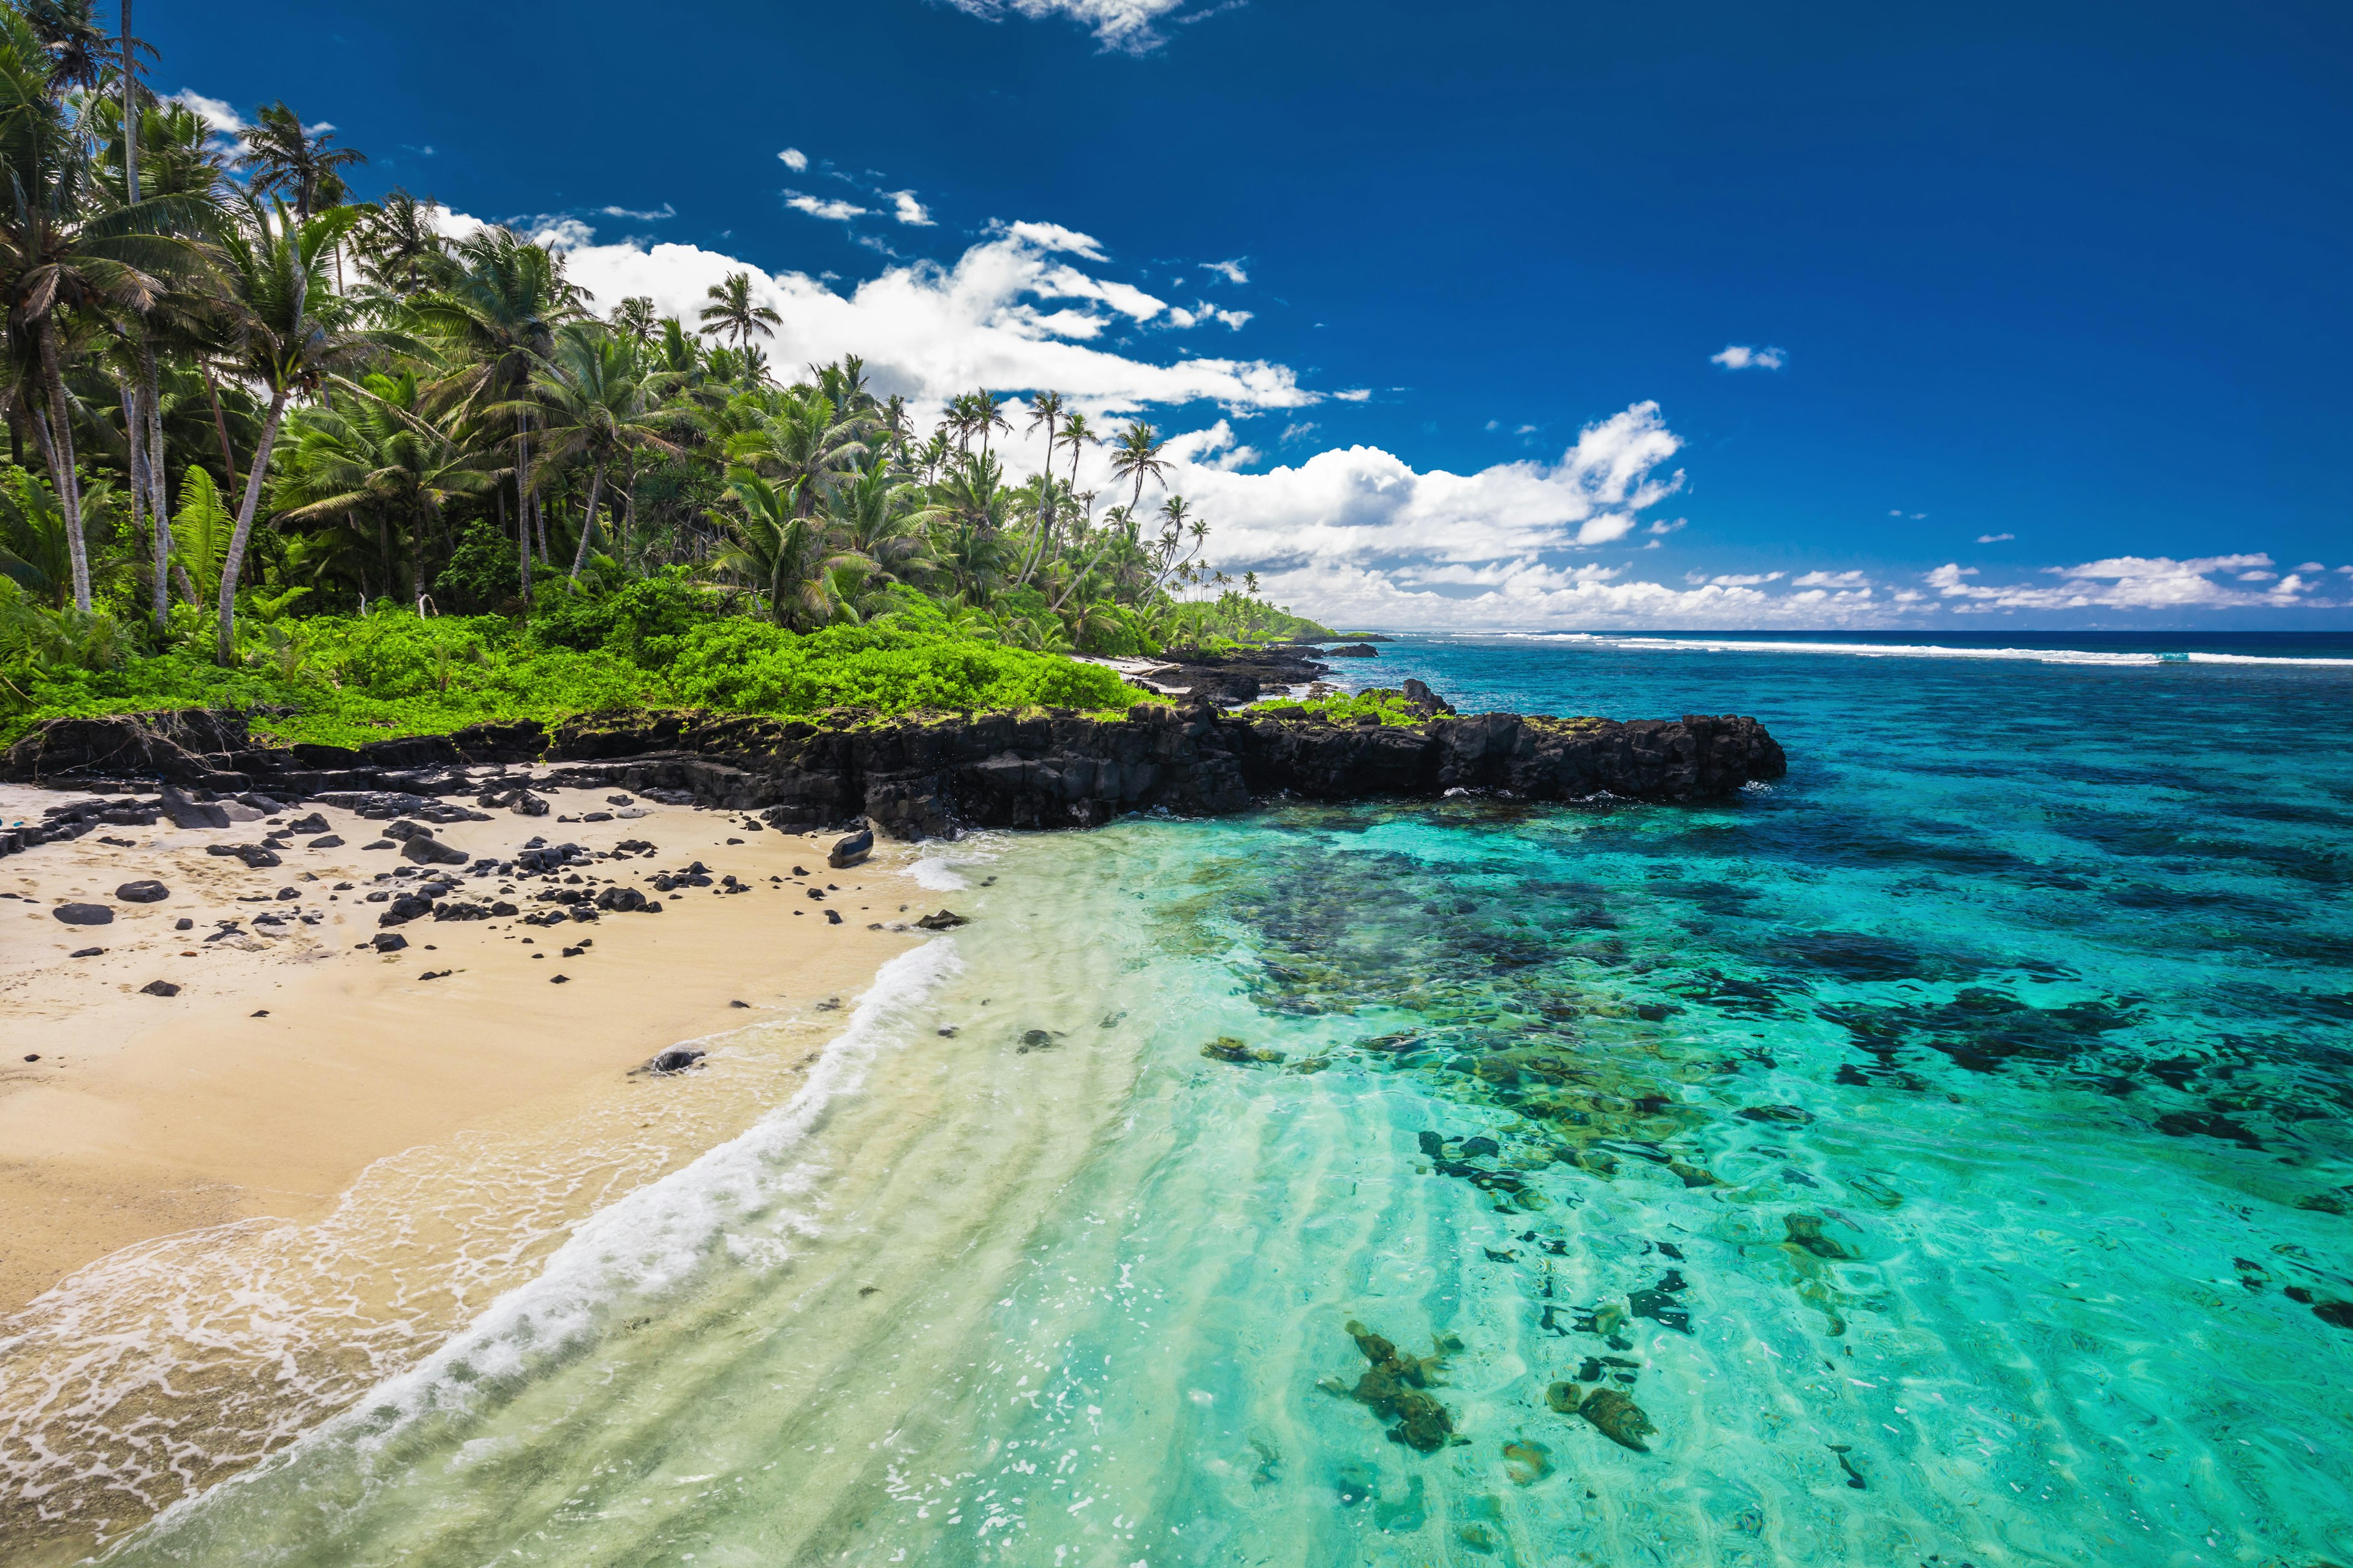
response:
<path id="1" fill-rule="evenodd" d="M 362 190 L 548 233 L 605 306 L 751 266 L 786 364 L 1141 414 L 1212 559 L 1301 609 L 2353 623 L 2341 5 L 151 0 L 139 28 L 160 89 L 285 96 L 374 158 Z"/>

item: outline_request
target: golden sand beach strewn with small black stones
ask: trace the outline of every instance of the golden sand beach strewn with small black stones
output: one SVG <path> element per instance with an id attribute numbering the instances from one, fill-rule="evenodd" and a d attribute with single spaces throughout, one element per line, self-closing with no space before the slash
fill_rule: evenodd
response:
<path id="1" fill-rule="evenodd" d="M 362 849 L 386 823 L 332 806 L 282 813 L 278 825 L 315 811 L 327 832 L 294 835 L 266 867 L 207 846 L 259 844 L 271 820 L 104 827 L 0 860 L 0 1314 L 155 1237 L 320 1215 L 372 1161 L 626 1103 L 645 1084 L 631 1072 L 659 1051 L 852 997 L 922 938 L 906 922 L 932 905 L 904 849 L 828 870 L 835 835 L 539 792 L 546 816 L 487 811 L 433 835 L 501 860 L 532 839 L 591 856 L 652 844 L 572 875 L 600 879 L 591 891 L 645 889 L 661 912 L 529 926 L 520 914 L 551 910 L 534 893 L 558 882 L 459 875 L 454 898 L 513 889 L 520 914 L 412 919 L 398 926 L 407 947 L 384 954 L 369 943 L 388 905 L 367 893 L 438 867 Z M 0 820 L 71 799 L 12 788 Z M 635 816 L 558 820 L 591 811 Z M 320 837 L 344 842 L 311 849 Z M 649 875 L 692 863 L 708 886 L 652 891 Z M 746 891 L 727 891 L 729 877 Z M 167 896 L 115 893 L 141 879 Z M 68 926 L 59 903 L 104 903 L 113 922 Z M 89 947 L 101 952 L 73 957 Z M 158 980 L 176 994 L 144 990 Z"/>

